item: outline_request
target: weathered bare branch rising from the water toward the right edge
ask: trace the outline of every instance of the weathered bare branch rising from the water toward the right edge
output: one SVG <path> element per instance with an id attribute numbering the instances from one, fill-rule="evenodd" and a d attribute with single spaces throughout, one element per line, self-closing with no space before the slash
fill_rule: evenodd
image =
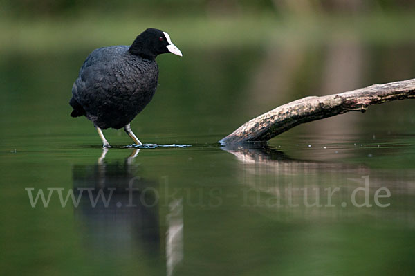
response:
<path id="1" fill-rule="evenodd" d="M 370 105 L 415 98 L 415 79 L 374 84 L 339 94 L 311 96 L 289 102 L 246 122 L 222 138 L 221 144 L 267 141 L 304 122 L 349 111 L 365 112 Z"/>

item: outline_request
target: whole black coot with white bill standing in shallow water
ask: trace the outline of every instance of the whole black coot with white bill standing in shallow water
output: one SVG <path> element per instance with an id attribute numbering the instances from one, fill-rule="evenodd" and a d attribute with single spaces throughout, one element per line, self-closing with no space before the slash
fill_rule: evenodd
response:
<path id="1" fill-rule="evenodd" d="M 130 122 L 151 101 L 158 81 L 156 57 L 163 53 L 182 56 L 169 35 L 148 28 L 131 46 L 93 50 L 86 57 L 72 86 L 72 117 L 85 116 L 100 134 L 103 147 L 111 147 L 102 129 L 124 127 L 137 145 Z"/>

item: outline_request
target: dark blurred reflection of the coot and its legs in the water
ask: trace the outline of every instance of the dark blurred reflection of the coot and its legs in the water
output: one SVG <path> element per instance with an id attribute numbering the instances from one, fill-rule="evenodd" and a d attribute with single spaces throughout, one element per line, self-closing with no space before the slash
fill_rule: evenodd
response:
<path id="1" fill-rule="evenodd" d="M 98 164 L 74 165 L 73 192 L 78 203 L 73 210 L 85 248 L 123 260 L 158 261 L 163 257 L 158 181 L 140 176 L 140 166 L 133 163 L 139 151 L 134 149 L 124 160 L 106 160 L 108 149 L 102 149 Z M 156 263 L 158 275 L 163 273 L 163 263 L 162 258 Z"/>

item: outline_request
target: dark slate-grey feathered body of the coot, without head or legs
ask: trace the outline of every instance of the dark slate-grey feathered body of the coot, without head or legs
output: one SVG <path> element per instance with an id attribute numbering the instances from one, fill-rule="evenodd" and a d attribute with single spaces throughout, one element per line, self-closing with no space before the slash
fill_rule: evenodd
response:
<path id="1" fill-rule="evenodd" d="M 98 48 L 86 58 L 72 88 L 74 115 L 101 129 L 120 129 L 153 98 L 158 80 L 154 59 L 131 55 L 128 46 Z"/>

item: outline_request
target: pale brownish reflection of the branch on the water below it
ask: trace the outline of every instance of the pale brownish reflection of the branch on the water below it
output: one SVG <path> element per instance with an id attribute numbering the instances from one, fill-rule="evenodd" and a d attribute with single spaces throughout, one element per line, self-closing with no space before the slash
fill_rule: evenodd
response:
<path id="1" fill-rule="evenodd" d="M 366 165 L 289 158 L 259 142 L 225 145 L 221 149 L 239 161 L 237 183 L 243 191 L 243 208 L 268 220 L 337 223 L 349 221 L 351 216 L 363 216 L 415 225 L 413 216 L 402 211 L 412 204 L 410 200 L 415 192 L 412 172 L 402 176 L 401 171 L 385 173 Z M 369 176 L 370 184 L 366 186 Z M 363 187 L 367 187 L 367 192 L 362 191 Z M 394 199 L 385 199 L 382 203 L 399 207 L 378 208 L 374 199 L 380 188 L 394 195 Z M 360 192 L 355 193 L 354 202 L 364 203 L 369 196 L 374 208 L 358 208 L 352 199 L 355 191 Z"/>

